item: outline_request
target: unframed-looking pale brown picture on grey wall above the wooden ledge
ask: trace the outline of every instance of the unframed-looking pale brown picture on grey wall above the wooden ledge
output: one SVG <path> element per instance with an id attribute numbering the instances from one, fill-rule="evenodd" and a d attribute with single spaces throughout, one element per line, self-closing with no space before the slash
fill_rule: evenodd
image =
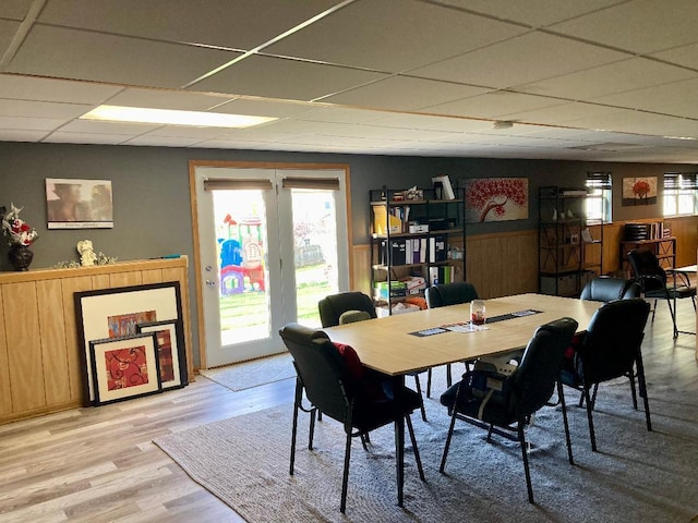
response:
<path id="1" fill-rule="evenodd" d="M 46 179 L 49 229 L 111 229 L 113 205 L 109 180 Z"/>

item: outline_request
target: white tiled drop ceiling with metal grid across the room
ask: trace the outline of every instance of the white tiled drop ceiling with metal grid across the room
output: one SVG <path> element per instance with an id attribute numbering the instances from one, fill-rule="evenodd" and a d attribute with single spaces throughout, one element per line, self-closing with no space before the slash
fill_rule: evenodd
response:
<path id="1" fill-rule="evenodd" d="M 0 141 L 698 163 L 697 27 L 696 0 L 3 0 Z M 80 120 L 101 104 L 277 120 Z"/>

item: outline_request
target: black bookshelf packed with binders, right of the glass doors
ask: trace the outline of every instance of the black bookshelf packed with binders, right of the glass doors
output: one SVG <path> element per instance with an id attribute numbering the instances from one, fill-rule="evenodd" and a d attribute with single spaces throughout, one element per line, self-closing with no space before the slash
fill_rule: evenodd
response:
<path id="1" fill-rule="evenodd" d="M 454 192 L 454 199 L 436 199 L 434 190 L 370 191 L 371 285 L 387 314 L 429 285 L 464 279 L 465 197 L 462 190 Z"/>

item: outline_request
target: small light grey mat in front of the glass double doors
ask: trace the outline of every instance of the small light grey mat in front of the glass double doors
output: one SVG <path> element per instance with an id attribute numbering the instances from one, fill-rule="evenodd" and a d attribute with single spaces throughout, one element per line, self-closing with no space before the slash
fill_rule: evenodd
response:
<path id="1" fill-rule="evenodd" d="M 201 369 L 200 373 L 230 390 L 245 390 L 296 376 L 293 360 L 286 352 L 225 367 Z"/>

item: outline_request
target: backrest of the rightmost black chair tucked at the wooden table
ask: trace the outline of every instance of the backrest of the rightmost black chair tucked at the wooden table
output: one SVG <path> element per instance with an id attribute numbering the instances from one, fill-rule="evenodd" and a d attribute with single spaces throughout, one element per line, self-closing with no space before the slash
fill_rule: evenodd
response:
<path id="1" fill-rule="evenodd" d="M 650 304 L 640 297 L 610 302 L 594 313 L 578 349 L 581 374 L 588 382 L 617 378 L 631 370 L 649 314 Z"/>

